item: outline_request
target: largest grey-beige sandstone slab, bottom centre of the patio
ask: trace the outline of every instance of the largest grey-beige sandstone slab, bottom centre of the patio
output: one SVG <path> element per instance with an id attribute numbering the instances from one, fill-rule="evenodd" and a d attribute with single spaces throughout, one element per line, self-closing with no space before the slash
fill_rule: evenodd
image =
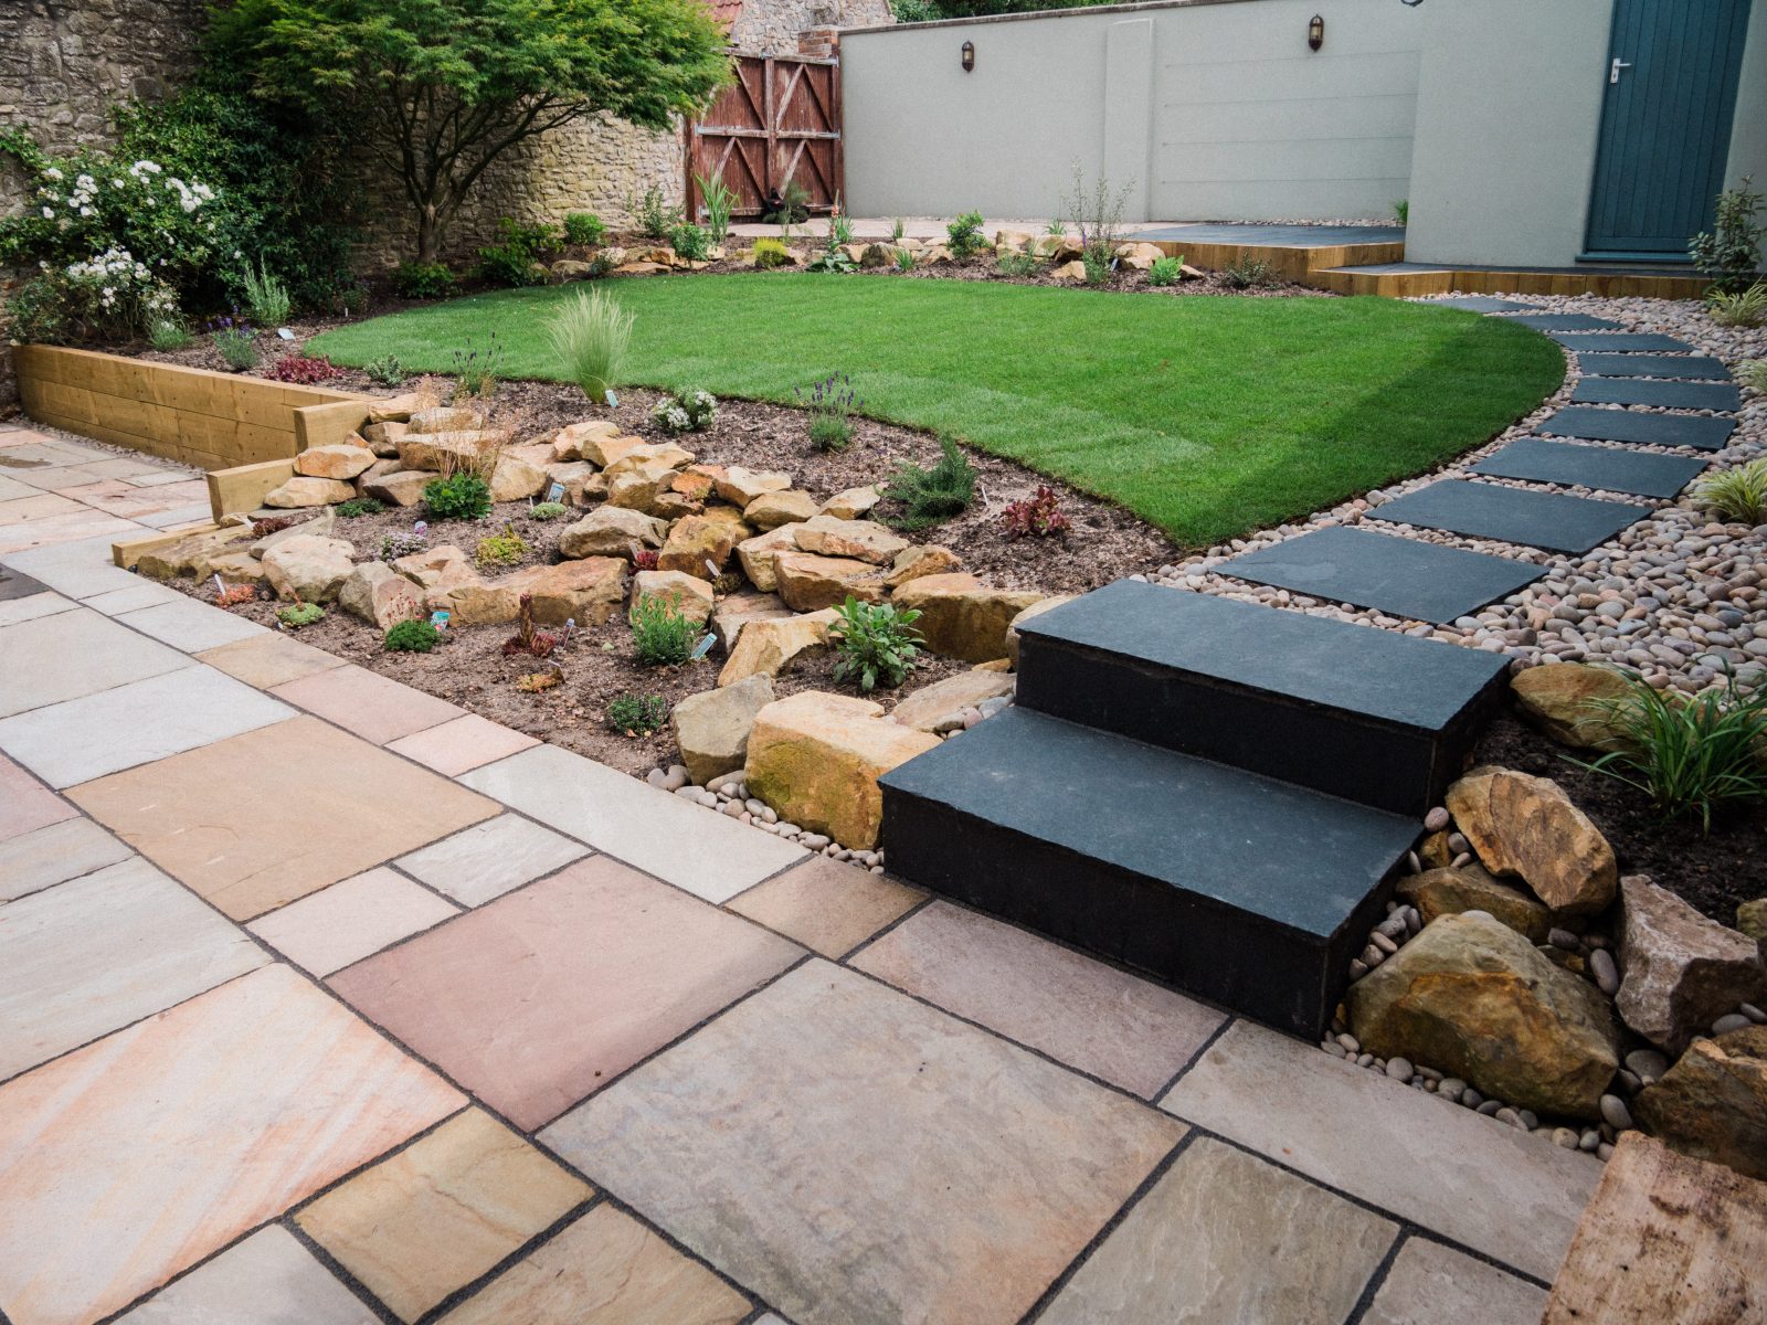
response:
<path id="1" fill-rule="evenodd" d="M 799 1325 L 988 1325 L 1018 1320 L 1182 1131 L 811 959 L 542 1140 Z"/>

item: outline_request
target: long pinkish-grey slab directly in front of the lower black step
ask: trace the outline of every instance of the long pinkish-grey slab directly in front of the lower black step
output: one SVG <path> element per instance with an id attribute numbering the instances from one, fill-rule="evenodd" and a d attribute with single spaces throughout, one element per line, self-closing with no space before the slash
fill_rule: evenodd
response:
<path id="1" fill-rule="evenodd" d="M 1016 926 L 935 901 L 859 970 L 1152 1099 L 1226 1014 Z"/>

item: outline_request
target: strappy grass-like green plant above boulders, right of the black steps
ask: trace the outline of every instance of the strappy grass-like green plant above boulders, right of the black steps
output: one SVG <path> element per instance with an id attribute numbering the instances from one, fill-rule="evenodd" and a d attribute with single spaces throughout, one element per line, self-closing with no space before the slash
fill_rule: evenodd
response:
<path id="1" fill-rule="evenodd" d="M 1695 696 L 1656 691 L 1629 678 L 1620 700 L 1601 700 L 1624 749 L 1580 763 L 1650 797 L 1665 818 L 1698 814 L 1705 832 L 1712 813 L 1767 800 L 1767 689 L 1744 693 L 1732 673 L 1723 685 Z"/>

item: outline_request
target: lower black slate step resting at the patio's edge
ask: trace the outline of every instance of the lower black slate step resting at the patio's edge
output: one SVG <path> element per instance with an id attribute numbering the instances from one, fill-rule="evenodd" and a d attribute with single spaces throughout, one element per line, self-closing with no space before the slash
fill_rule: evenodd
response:
<path id="1" fill-rule="evenodd" d="M 894 768 L 891 871 L 1318 1037 L 1417 822 L 1014 707 Z"/>

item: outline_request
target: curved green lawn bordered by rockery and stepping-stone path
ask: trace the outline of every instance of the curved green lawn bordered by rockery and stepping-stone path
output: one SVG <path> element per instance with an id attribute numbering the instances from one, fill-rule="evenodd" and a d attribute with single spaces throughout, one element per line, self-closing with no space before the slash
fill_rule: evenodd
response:
<path id="1" fill-rule="evenodd" d="M 790 401 L 848 373 L 864 413 L 1108 496 L 1203 546 L 1419 473 L 1564 378 L 1544 336 L 1391 299 L 1154 299 L 859 276 L 663 276 L 631 307 L 634 385 Z M 504 376 L 558 378 L 569 286 L 456 299 L 327 332 L 316 353 L 447 373 L 497 330 Z M 880 475 L 882 477 L 882 475 Z"/>

